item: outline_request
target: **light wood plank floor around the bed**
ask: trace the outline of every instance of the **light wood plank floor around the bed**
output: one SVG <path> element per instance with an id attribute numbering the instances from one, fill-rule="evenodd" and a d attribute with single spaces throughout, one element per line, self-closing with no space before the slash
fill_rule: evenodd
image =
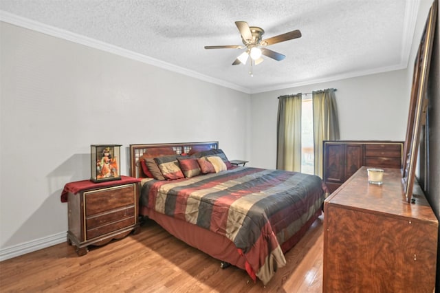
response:
<path id="1" fill-rule="evenodd" d="M 322 216 L 263 285 L 187 246 L 153 221 L 83 257 L 67 243 L 0 263 L 0 292 L 322 292 Z"/>

